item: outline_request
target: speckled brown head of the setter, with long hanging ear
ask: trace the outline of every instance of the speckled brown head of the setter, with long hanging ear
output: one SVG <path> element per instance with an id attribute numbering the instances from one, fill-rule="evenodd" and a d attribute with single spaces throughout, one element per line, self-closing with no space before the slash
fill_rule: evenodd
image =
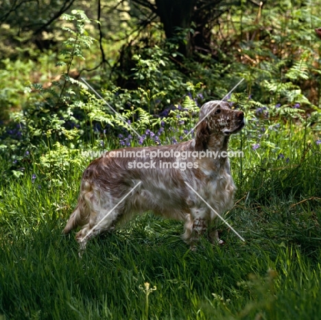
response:
<path id="1" fill-rule="evenodd" d="M 225 101 L 209 101 L 200 109 L 200 124 L 195 129 L 195 148 L 206 149 L 210 136 L 230 136 L 244 127 L 244 114 L 232 110 Z"/>

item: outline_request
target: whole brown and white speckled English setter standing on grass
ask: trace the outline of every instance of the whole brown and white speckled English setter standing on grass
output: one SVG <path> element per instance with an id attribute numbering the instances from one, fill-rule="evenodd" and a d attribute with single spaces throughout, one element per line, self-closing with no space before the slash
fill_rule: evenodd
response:
<path id="1" fill-rule="evenodd" d="M 84 171 L 78 204 L 64 234 L 81 227 L 76 239 L 84 248 L 89 238 L 152 210 L 184 221 L 182 238 L 194 249 L 216 215 L 233 206 L 236 188 L 226 151 L 230 134 L 243 126 L 242 111 L 231 110 L 227 102 L 209 101 L 200 109 L 192 140 L 106 152 Z M 222 243 L 217 230 L 208 236 L 212 243 Z"/>

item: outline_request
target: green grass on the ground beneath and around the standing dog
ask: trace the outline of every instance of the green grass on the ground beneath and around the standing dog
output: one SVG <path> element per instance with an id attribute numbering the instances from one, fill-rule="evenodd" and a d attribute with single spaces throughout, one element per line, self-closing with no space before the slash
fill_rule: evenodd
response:
<path id="1" fill-rule="evenodd" d="M 232 159 L 242 186 L 227 219 L 246 243 L 221 224 L 226 245 L 202 239 L 195 252 L 180 240 L 181 223 L 145 214 L 93 239 L 80 259 L 73 234 L 61 232 L 82 168 L 30 164 L 3 178 L 0 319 L 319 319 L 320 147 L 311 131 L 272 134 L 277 152 L 254 151 L 242 136 L 242 174 Z M 5 156 L 0 167 L 8 171 Z M 51 169 L 60 184 L 42 175 Z"/>

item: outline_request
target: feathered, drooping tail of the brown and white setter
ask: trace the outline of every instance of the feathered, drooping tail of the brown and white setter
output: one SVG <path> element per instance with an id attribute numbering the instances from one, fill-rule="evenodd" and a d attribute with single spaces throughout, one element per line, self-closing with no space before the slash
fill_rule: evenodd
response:
<path id="1" fill-rule="evenodd" d="M 91 212 L 91 197 L 93 197 L 93 188 L 91 183 L 88 181 L 83 181 L 82 186 L 80 187 L 78 204 L 71 214 L 66 227 L 64 227 L 64 230 L 62 231 L 63 234 L 69 234 L 69 232 L 76 227 L 81 227 L 82 225 L 88 223 Z"/>

